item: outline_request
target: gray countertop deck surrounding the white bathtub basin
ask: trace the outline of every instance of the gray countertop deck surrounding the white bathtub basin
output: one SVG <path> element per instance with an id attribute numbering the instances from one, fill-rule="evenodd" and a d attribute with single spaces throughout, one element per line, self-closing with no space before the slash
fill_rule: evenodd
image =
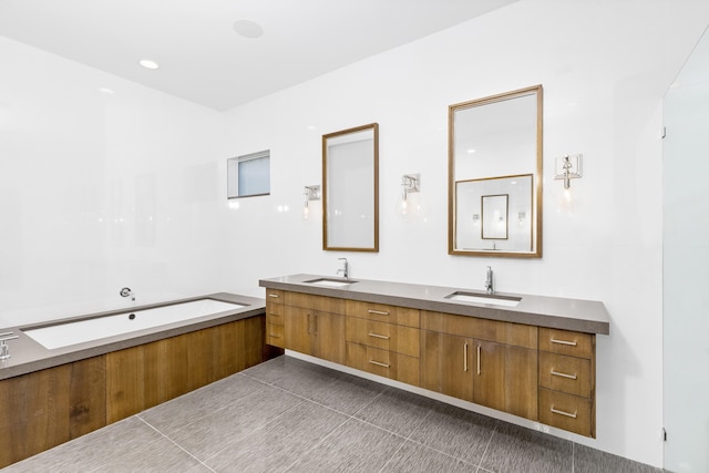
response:
<path id="1" fill-rule="evenodd" d="M 22 330 L 65 323 L 70 321 L 84 320 L 90 318 L 113 316 L 117 313 L 129 313 L 138 310 L 151 309 L 155 307 L 171 306 L 174 304 L 189 302 L 198 299 L 215 299 L 225 302 L 239 304 L 245 307 L 226 310 L 218 313 L 203 316 L 191 320 L 163 325 L 150 329 L 138 330 L 120 336 L 107 337 L 99 340 L 92 340 L 84 343 L 76 343 L 69 347 L 47 349 L 32 338 L 27 336 Z M 136 347 L 138 345 L 162 340 L 169 337 L 201 330 L 217 325 L 246 319 L 254 316 L 265 313 L 266 304 L 264 299 L 238 296 L 228 292 L 217 292 L 201 297 L 191 297 L 187 299 L 171 300 L 161 304 L 151 304 L 145 306 L 135 306 L 120 310 L 111 310 L 105 312 L 86 313 L 79 317 L 52 320 L 50 322 L 33 323 L 19 327 L 7 327 L 0 329 L 1 332 L 12 331 L 19 336 L 17 340 L 8 342 L 10 346 L 11 358 L 0 360 L 0 380 L 13 378 L 33 371 L 56 367 L 60 364 L 71 363 L 111 351 L 123 350 L 125 348 Z"/>

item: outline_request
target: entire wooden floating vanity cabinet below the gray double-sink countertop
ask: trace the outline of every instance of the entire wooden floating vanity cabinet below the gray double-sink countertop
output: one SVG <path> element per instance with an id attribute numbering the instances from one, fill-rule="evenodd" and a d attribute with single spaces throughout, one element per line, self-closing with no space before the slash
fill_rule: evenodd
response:
<path id="1" fill-rule="evenodd" d="M 595 436 L 595 335 L 267 288 L 267 342 Z"/>

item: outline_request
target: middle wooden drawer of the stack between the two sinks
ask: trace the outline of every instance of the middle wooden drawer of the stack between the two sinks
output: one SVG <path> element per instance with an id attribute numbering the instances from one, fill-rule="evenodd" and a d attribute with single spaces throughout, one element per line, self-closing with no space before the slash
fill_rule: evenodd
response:
<path id="1" fill-rule="evenodd" d="M 347 317 L 347 341 L 419 358 L 420 331 L 413 327 L 397 326 L 374 320 Z"/>

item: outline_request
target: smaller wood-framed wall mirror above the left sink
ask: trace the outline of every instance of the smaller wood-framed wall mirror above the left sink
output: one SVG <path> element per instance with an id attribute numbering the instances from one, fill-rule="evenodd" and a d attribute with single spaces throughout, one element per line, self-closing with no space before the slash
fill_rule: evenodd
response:
<path id="1" fill-rule="evenodd" d="M 322 249 L 379 251 L 379 125 L 322 135 Z"/>

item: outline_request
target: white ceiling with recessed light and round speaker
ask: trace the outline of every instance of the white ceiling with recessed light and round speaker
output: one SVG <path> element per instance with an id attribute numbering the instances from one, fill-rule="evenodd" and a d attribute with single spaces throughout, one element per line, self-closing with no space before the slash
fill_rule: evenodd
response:
<path id="1" fill-rule="evenodd" d="M 223 111 L 515 1 L 0 0 L 0 35 Z"/>

